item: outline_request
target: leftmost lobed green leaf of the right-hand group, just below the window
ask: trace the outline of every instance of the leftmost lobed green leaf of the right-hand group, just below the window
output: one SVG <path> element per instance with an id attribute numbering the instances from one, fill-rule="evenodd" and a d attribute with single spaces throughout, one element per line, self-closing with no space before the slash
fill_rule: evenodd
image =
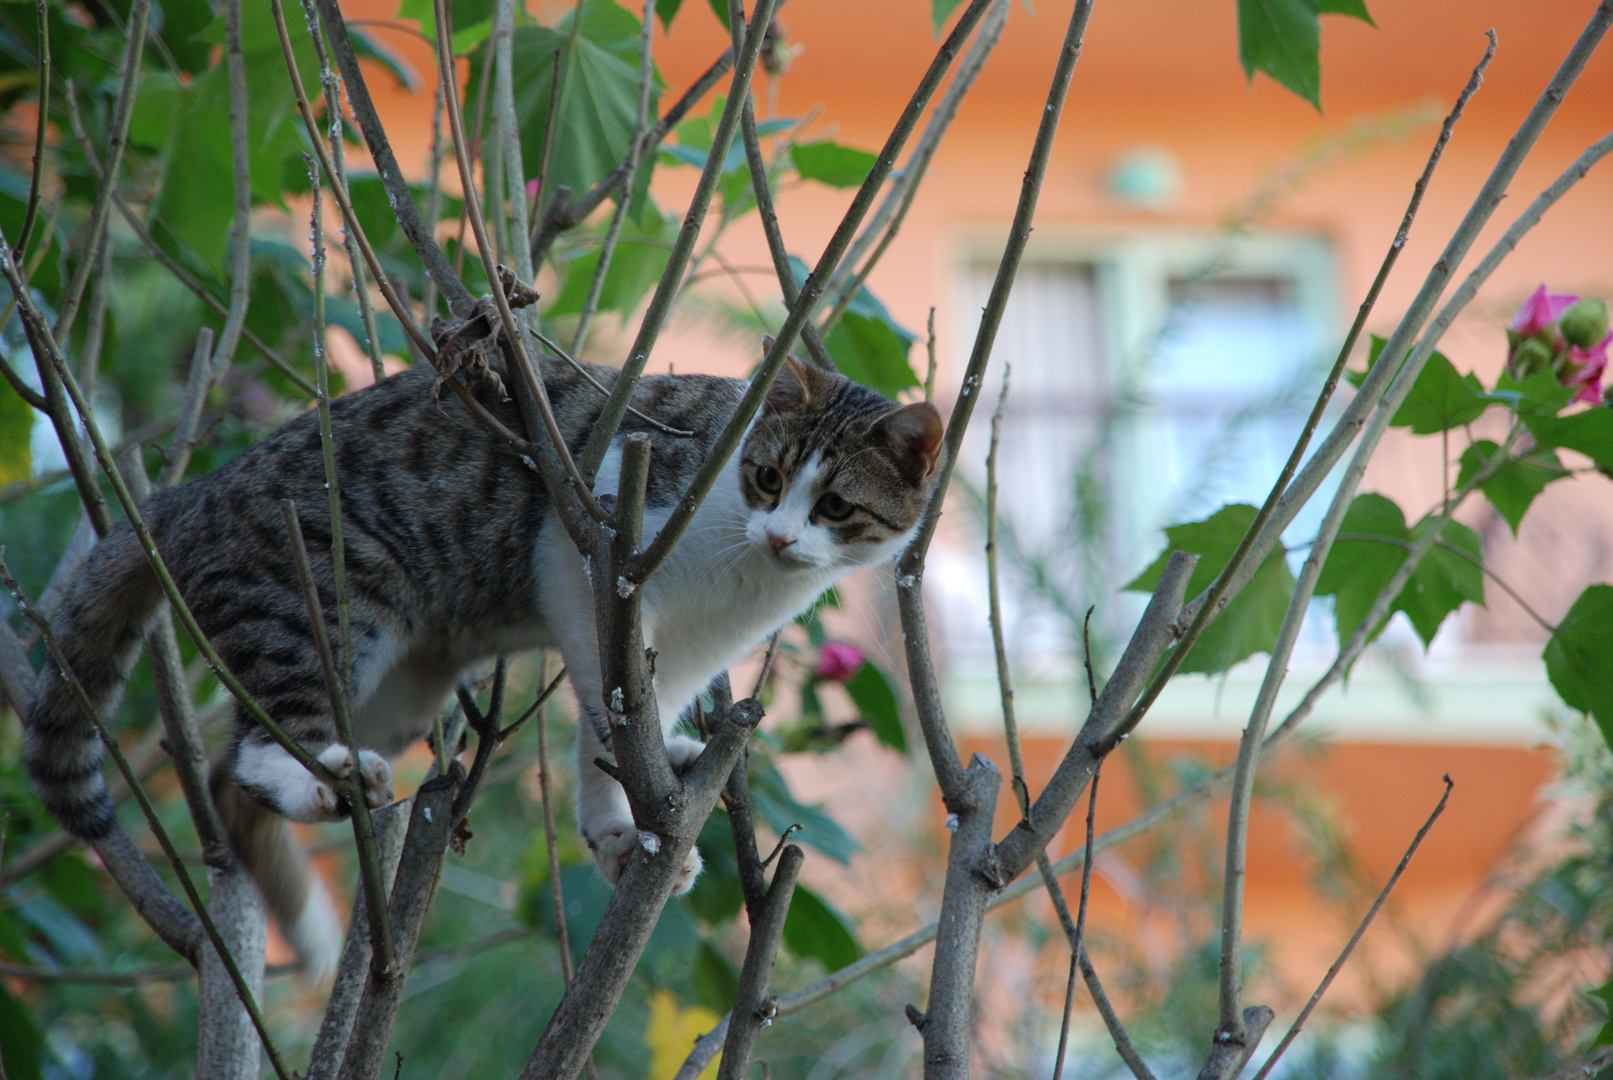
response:
<path id="1" fill-rule="evenodd" d="M 1255 508 L 1244 503 L 1223 506 L 1205 521 L 1171 525 L 1165 530 L 1165 551 L 1153 564 L 1124 585 L 1132 592 L 1153 592 L 1165 572 L 1171 551 L 1189 551 L 1200 556 L 1187 595 L 1197 596 L 1216 579 L 1231 561 L 1237 542 L 1255 521 Z M 1184 672 L 1223 672 L 1255 653 L 1269 653 L 1282 629 L 1282 613 L 1294 595 L 1294 574 L 1284 559 L 1282 548 L 1266 555 L 1255 575 L 1244 585 L 1221 617 L 1210 624 L 1198 643 L 1182 661 Z"/>

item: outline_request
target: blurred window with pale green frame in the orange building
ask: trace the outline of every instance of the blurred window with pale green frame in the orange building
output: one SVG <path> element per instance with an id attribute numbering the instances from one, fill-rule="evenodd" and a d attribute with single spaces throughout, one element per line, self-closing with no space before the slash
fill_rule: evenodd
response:
<path id="1" fill-rule="evenodd" d="M 1115 590 L 1160 551 L 1163 525 L 1265 498 L 1315 398 L 1336 301 L 1331 253 L 1307 237 L 1139 237 L 1039 256 L 1010 297 L 960 472 L 984 492 L 1007 364 L 1005 622 L 1021 663 L 1065 667 L 1089 604 L 1110 638 L 1140 611 L 1145 598 L 1116 603 Z M 965 268 L 958 353 L 995 269 Z M 960 572 L 937 582 L 947 645 L 986 659 L 979 550 L 953 558 Z"/>

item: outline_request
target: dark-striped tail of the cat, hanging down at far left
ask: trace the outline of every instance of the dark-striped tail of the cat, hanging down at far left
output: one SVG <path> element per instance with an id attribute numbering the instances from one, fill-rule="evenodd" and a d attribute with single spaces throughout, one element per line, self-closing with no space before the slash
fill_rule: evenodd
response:
<path id="1" fill-rule="evenodd" d="M 140 640 L 163 592 L 127 525 L 95 545 L 56 613 L 53 632 L 95 712 L 123 698 Z M 45 661 L 27 709 L 24 761 L 39 800 L 81 840 L 100 840 L 116 808 L 102 779 L 100 737 L 55 658 Z"/>

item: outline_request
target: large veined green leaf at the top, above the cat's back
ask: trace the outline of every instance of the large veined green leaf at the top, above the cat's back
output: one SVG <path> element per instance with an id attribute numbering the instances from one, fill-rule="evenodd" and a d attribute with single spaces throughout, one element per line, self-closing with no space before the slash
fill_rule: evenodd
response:
<path id="1" fill-rule="evenodd" d="M 555 29 L 521 26 L 515 55 L 515 110 L 521 126 L 521 160 L 536 176 L 550 124 L 550 89 L 560 60 L 560 116 L 550 184 L 582 193 L 626 156 L 639 111 L 639 19 L 610 0 L 586 0 L 576 37 L 571 16 Z M 471 55 L 465 85 L 476 87 L 484 44 Z M 650 92 L 656 110 L 660 79 Z"/>

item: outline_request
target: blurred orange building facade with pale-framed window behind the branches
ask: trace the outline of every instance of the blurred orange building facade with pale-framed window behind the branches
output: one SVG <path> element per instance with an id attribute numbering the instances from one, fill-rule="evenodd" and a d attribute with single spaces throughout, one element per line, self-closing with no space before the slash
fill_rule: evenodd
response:
<path id="1" fill-rule="evenodd" d="M 392 15 L 381 10 L 392 6 L 387 0 L 347 6 Z M 726 45 L 705 6 L 686 0 L 671 34 L 663 40 L 656 31 L 660 71 L 674 93 Z M 1368 322 L 1371 332 L 1392 329 L 1594 5 L 1374 0 L 1369 6 L 1376 26 L 1323 19 L 1321 113 L 1265 77 L 1244 77 L 1231 3 L 1129 0 L 1095 8 L 961 469 L 965 482 L 982 482 L 986 419 L 1003 364 L 1011 364 L 1002 505 L 1010 534 L 1010 646 L 1032 790 L 1084 711 L 1076 625 L 1086 606 L 1098 606 L 1100 645 L 1123 642 L 1140 598 L 1116 596 L 1116 588 L 1158 555 L 1161 525 L 1200 519 L 1227 501 L 1258 505 L 1273 482 L 1318 372 L 1400 222 L 1439 121 L 1484 52 L 1486 27 L 1498 34 L 1497 58 L 1445 153 Z M 1015 5 L 907 224 L 869 279 L 915 330 L 936 309 L 942 403 L 958 390 L 1066 11 L 1068 5 L 1039 3 L 1034 11 Z M 782 77 L 758 74 L 763 100 L 781 116 L 816 111 L 813 131 L 877 148 L 932 53 L 929 5 L 795 0 L 781 18 L 798 55 Z M 376 32 L 431 69 L 418 40 Z M 384 111 L 418 121 L 390 129 L 400 158 L 421 160 L 429 93 L 390 89 L 381 97 Z M 1603 50 L 1476 251 L 1487 250 L 1511 214 L 1605 132 L 1608 102 L 1613 55 Z M 656 195 L 665 206 L 681 206 L 692 182 L 690 171 L 668 176 Z M 784 190 L 781 221 L 790 250 L 813 261 L 848 198 L 818 185 Z M 731 231 L 721 250 L 737 268 L 763 268 L 755 289 L 773 293 L 753 221 Z M 1524 295 L 1540 282 L 1558 292 L 1613 295 L 1610 251 L 1613 171 L 1603 166 L 1519 245 L 1442 350 L 1460 371 L 1494 379 L 1505 351 L 1502 329 Z M 597 334 L 590 359 L 619 361 L 613 345 L 624 342 Z M 658 347 L 652 371 L 737 374 L 752 359 L 744 342 L 710 322 L 681 321 Z M 923 345 L 913 361 L 923 366 Z M 1474 427 L 1478 435 L 1494 434 L 1484 427 L 1489 419 Z M 1460 448 L 1450 451 L 1457 455 Z M 1437 438 L 1394 430 L 1363 490 L 1390 495 L 1408 516 L 1421 514 L 1440 498 L 1440 456 Z M 1289 543 L 1303 543 L 1319 514 L 1318 506 L 1295 522 Z M 1516 537 L 1479 501 L 1461 519 L 1482 537 L 1487 566 L 1547 621 L 1560 617 L 1584 585 L 1613 579 L 1613 496 L 1602 477 L 1547 488 Z M 1044 585 L 1031 584 L 1029 571 Z M 926 585 L 945 658 L 948 721 L 1003 764 L 981 534 L 966 496 L 950 508 Z M 1326 608 L 1311 624 L 1284 703 L 1332 659 Z M 1460 919 L 1482 906 L 1486 883 L 1540 811 L 1539 791 L 1552 775 L 1542 714 L 1555 703 L 1539 661 L 1542 643 L 1528 611 L 1495 587 L 1487 588 L 1484 609 L 1453 617 L 1426 654 L 1408 627 L 1392 625 L 1308 725 L 1326 737 L 1326 750 L 1279 766 L 1287 782 L 1326 804 L 1373 882 L 1387 877 L 1437 798 L 1440 775 L 1452 774 L 1458 788 L 1450 811 L 1397 898 L 1402 922 L 1429 946 L 1460 933 Z M 1215 680 L 1179 679 L 1142 727 L 1147 753 L 1157 761 L 1189 751 L 1213 764 L 1229 761 L 1258 679 L 1258 667 Z M 1129 772 L 1136 762 L 1118 761 L 1115 779 L 1107 775 L 1100 829 L 1142 804 L 1137 785 L 1121 779 Z M 1347 930 L 1307 879 L 1307 854 L 1294 843 L 1282 816 L 1257 817 L 1247 933 L 1282 943 L 1284 969 L 1305 982 L 1319 975 Z M 1136 919 L 1144 932 L 1147 903 L 1127 888 L 1126 858 L 1121 849 L 1100 864 L 1097 912 Z"/>

